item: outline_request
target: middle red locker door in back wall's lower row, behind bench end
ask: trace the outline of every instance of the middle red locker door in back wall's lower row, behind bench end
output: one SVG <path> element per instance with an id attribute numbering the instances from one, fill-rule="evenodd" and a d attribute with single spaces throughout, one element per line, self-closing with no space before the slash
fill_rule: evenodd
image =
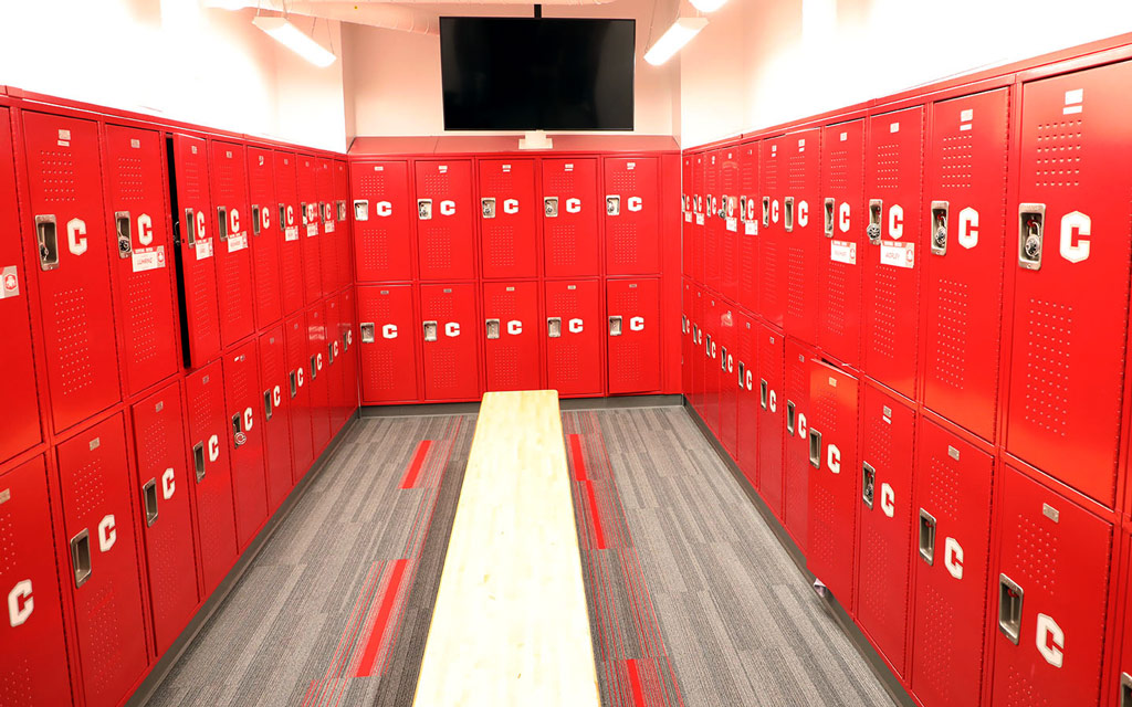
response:
<path id="1" fill-rule="evenodd" d="M 538 283 L 483 284 L 484 352 L 488 390 L 538 390 Z"/>

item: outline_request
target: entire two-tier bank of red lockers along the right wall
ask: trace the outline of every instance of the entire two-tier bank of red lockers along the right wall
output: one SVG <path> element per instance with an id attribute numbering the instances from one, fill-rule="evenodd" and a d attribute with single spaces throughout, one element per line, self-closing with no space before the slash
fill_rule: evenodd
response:
<path id="1" fill-rule="evenodd" d="M 1132 686 L 1130 80 L 1052 69 L 683 156 L 684 390 L 926 707 Z"/>

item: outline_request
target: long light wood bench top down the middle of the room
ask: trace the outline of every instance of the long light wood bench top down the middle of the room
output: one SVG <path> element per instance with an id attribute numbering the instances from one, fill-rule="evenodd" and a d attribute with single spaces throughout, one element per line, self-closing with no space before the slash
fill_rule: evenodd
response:
<path id="1" fill-rule="evenodd" d="M 558 394 L 483 396 L 415 707 L 600 707 Z"/>

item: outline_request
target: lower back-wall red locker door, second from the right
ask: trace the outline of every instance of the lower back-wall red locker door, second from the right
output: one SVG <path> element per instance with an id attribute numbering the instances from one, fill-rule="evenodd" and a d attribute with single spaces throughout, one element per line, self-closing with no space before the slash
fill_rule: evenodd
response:
<path id="1" fill-rule="evenodd" d="M 601 395 L 601 291 L 598 281 L 548 282 L 547 387 L 563 398 Z"/>

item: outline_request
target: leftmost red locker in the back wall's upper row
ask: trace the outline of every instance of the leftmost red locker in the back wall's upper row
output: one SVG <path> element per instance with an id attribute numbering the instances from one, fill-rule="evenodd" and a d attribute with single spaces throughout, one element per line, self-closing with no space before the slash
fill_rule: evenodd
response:
<path id="1" fill-rule="evenodd" d="M 358 282 L 412 279 L 409 163 L 355 162 L 350 175 Z"/>

